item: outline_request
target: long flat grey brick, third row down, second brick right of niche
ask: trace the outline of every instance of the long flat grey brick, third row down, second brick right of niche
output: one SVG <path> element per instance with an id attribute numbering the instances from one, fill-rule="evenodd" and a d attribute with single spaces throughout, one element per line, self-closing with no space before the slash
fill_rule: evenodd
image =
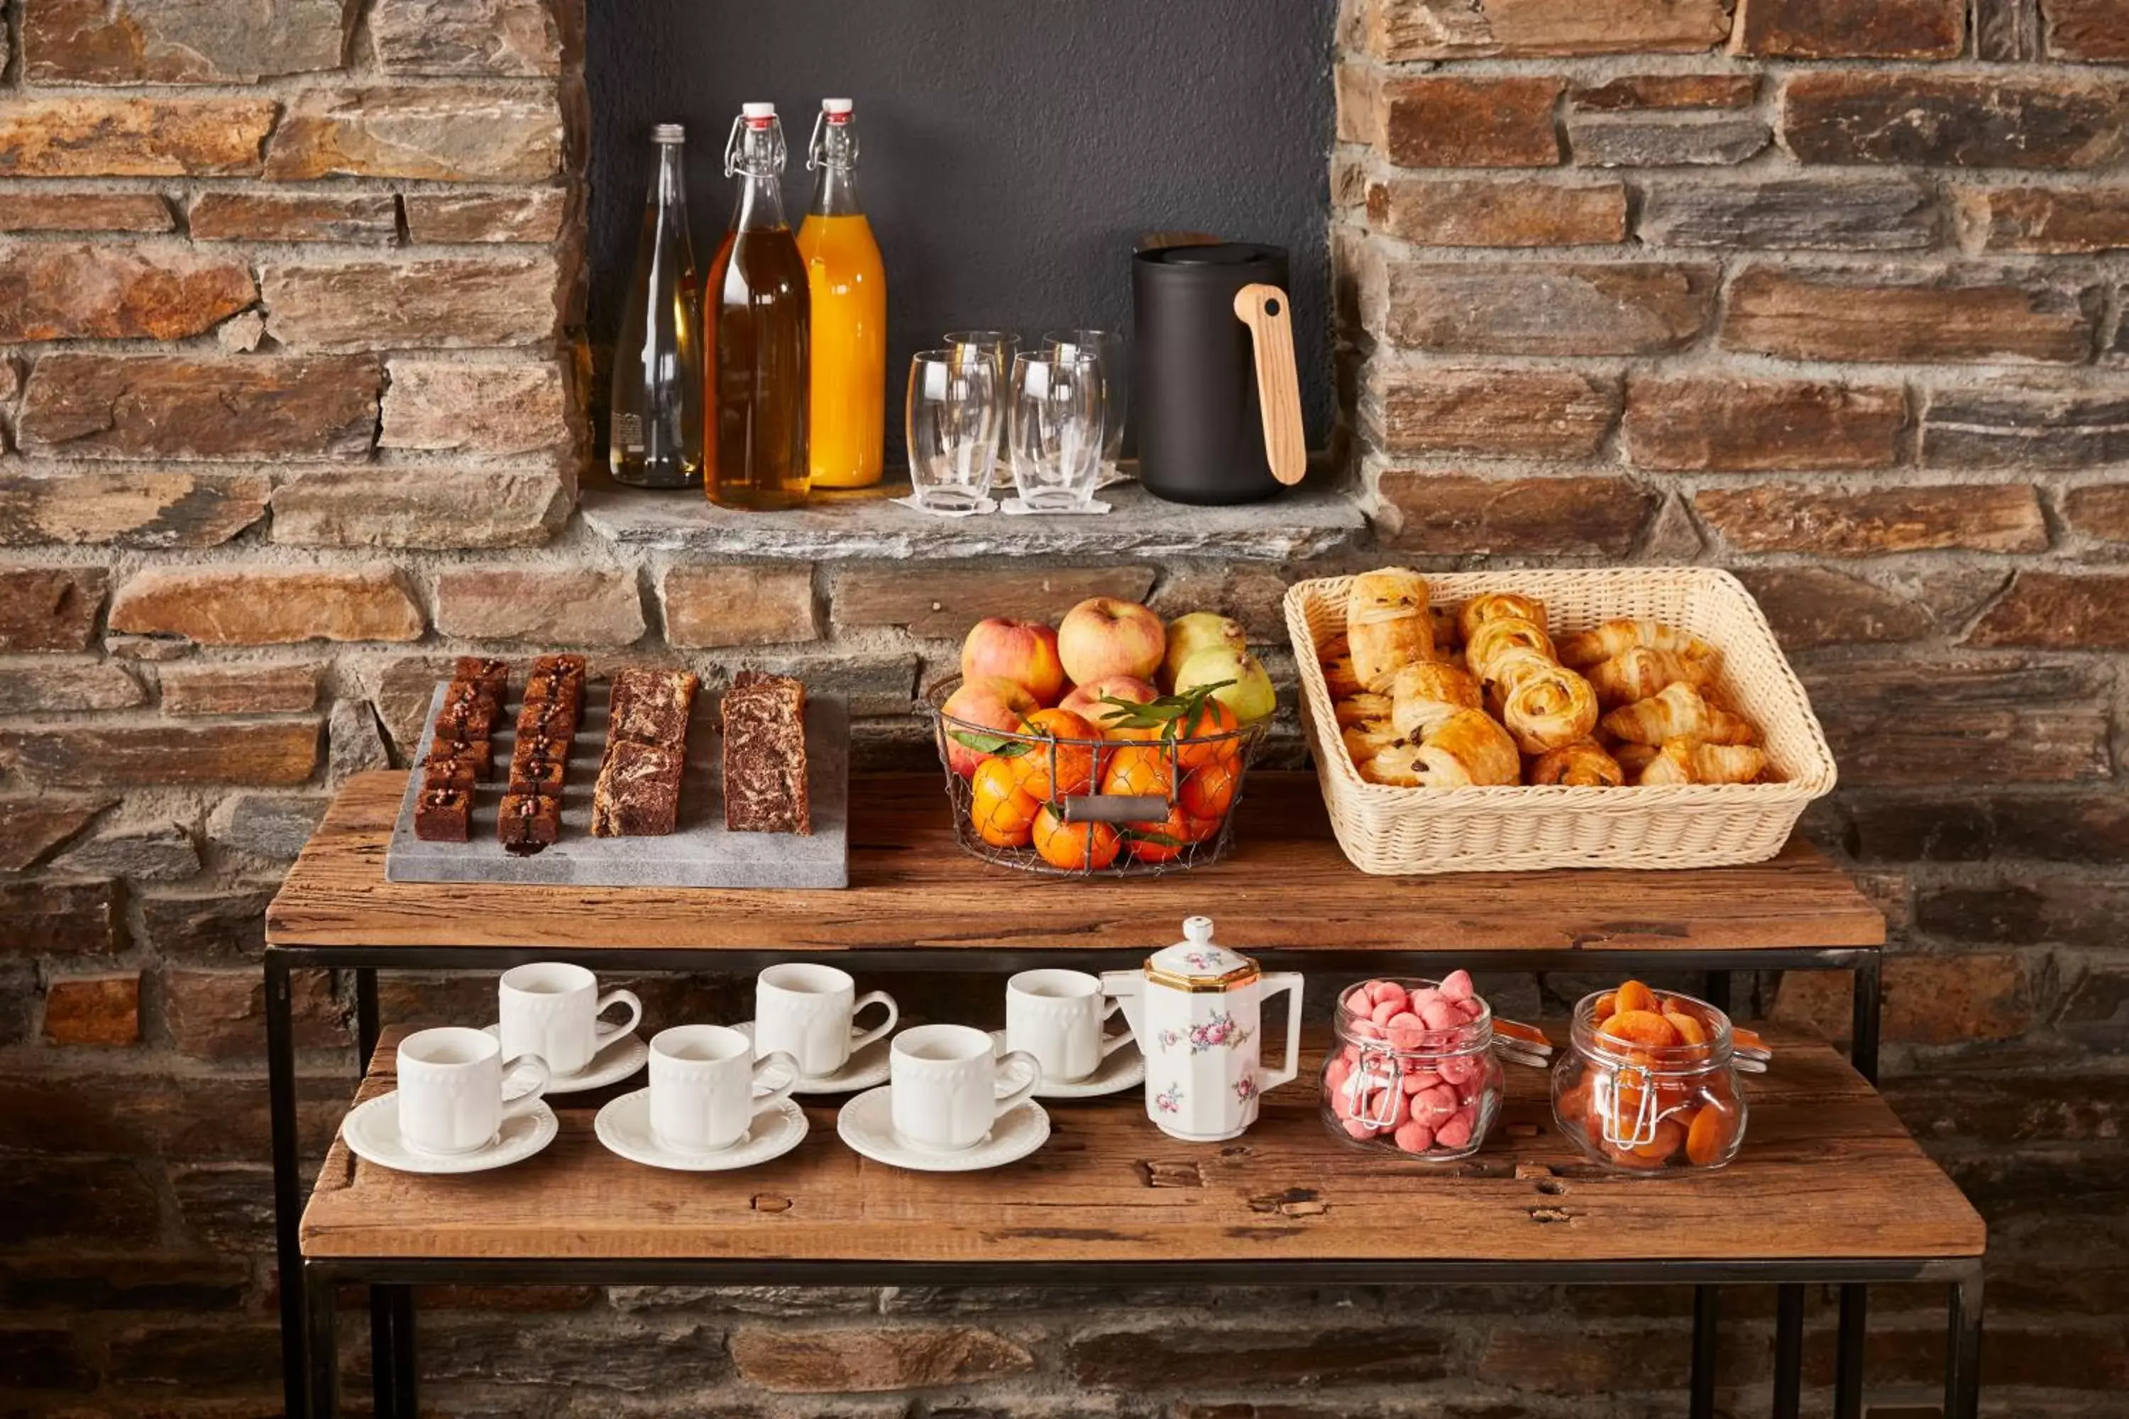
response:
<path id="1" fill-rule="evenodd" d="M 1937 198 L 1912 179 L 1650 183 L 1635 234 L 1650 247 L 1905 251 L 1937 245 Z"/>

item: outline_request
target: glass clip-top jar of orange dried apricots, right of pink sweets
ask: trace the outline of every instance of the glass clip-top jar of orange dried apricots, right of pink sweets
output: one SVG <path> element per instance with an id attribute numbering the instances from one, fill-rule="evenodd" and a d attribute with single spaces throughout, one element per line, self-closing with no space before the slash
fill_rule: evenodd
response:
<path id="1" fill-rule="evenodd" d="M 1693 996 L 1639 981 L 1575 1004 L 1573 1045 L 1552 1070 L 1552 1117 L 1605 1168 L 1720 1168 L 1744 1145 L 1742 1070 L 1765 1072 L 1756 1036 Z"/>

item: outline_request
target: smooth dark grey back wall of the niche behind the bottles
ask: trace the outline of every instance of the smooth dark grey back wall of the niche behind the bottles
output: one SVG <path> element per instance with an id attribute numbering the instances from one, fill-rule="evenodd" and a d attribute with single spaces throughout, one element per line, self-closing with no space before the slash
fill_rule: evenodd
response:
<path id="1" fill-rule="evenodd" d="M 688 123 L 696 262 L 730 219 L 726 130 L 775 100 L 803 149 L 822 96 L 862 126 L 860 196 L 888 262 L 888 462 L 909 355 L 945 330 L 1130 330 L 1139 232 L 1292 251 L 1309 443 L 1331 425 L 1326 255 L 1335 0 L 594 0 L 592 332 L 611 343 L 649 126 Z M 600 391 L 600 404 L 605 396 Z"/>

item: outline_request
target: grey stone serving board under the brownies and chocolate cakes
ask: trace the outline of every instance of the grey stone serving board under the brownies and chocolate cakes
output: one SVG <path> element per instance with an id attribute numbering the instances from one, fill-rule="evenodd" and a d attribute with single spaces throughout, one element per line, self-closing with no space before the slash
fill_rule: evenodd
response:
<path id="1" fill-rule="evenodd" d="M 447 683 L 430 696 L 415 764 L 428 757 Z M 847 887 L 849 885 L 849 704 L 839 694 L 807 696 L 805 749 L 813 832 L 726 832 L 724 770 L 715 732 L 715 696 L 694 698 L 688 725 L 688 770 L 681 777 L 679 828 L 664 838 L 594 838 L 592 785 L 607 749 L 607 685 L 590 685 L 583 723 L 571 740 L 562 779 L 562 840 L 530 857 L 511 857 L 496 840 L 496 811 L 517 742 L 519 696 L 513 691 L 494 736 L 494 779 L 473 791 L 473 838 L 424 842 L 413 836 L 413 800 L 422 770 L 407 779 L 385 881 L 394 883 L 524 883 L 528 887 Z"/>

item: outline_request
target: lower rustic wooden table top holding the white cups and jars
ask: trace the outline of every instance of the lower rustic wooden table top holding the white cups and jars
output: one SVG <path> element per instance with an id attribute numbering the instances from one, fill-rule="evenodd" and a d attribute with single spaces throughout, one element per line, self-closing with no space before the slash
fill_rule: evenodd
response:
<path id="1" fill-rule="evenodd" d="M 1978 1257 L 1982 1219 L 1863 1079 L 1825 1042 L 1769 1036 L 1746 1081 L 1737 1162 L 1663 1179 L 1607 1176 L 1552 1125 L 1541 1070 L 1507 1068 L 1484 1149 L 1418 1166 L 1324 1132 L 1316 1074 L 1265 1096 L 1239 1140 L 1177 1142 L 1137 1089 L 1050 1104 L 1035 1155 L 992 1172 L 924 1174 L 843 1147 L 807 1108 L 792 1153 L 741 1172 L 630 1164 L 594 1111 L 554 1100 L 560 1136 L 473 1176 L 411 1176 L 334 1140 L 302 1217 L 307 1257 L 749 1257 L 820 1262 L 1656 1262 Z M 379 1049 L 360 1098 L 392 1087 Z M 1314 1059 L 1309 1059 L 1314 1062 Z M 617 1091 L 641 1087 L 639 1076 Z M 605 1096 L 590 1096 L 605 1098 Z"/>

